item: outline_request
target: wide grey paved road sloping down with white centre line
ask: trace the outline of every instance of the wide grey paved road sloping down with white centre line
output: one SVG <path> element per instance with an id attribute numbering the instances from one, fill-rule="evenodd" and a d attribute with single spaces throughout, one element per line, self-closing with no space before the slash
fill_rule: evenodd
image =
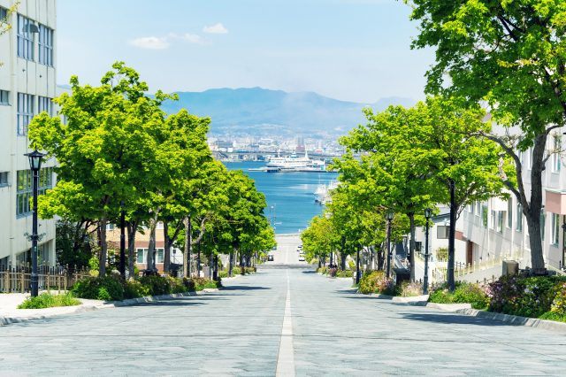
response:
<path id="1" fill-rule="evenodd" d="M 292 363 L 297 375 L 560 375 L 566 367 L 564 334 L 392 304 L 355 295 L 350 283 L 271 268 L 207 296 L 0 327 L 0 375 L 263 376 L 276 373 L 278 357 L 279 373 Z"/>

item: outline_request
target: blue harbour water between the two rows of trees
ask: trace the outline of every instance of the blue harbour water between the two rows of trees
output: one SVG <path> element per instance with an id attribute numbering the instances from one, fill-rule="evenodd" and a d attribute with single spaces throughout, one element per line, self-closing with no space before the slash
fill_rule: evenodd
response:
<path id="1" fill-rule="evenodd" d="M 315 203 L 319 184 L 338 178 L 337 173 L 264 173 L 249 172 L 249 168 L 264 166 L 260 162 L 226 162 L 230 170 L 242 170 L 256 181 L 256 188 L 267 200 L 265 215 L 272 221 L 277 234 L 297 233 L 309 226 L 310 219 L 322 213 L 324 207 Z"/>

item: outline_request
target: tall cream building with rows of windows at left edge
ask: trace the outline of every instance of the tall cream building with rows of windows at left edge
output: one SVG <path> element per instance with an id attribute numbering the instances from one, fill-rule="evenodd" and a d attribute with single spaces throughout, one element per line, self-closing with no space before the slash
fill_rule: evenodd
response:
<path id="1" fill-rule="evenodd" d="M 0 0 L 0 18 L 16 0 Z M 0 35 L 0 266 L 30 262 L 32 196 L 26 156 L 27 126 L 35 114 L 54 114 L 56 96 L 56 0 L 20 0 Z M 50 159 L 42 164 L 40 194 L 55 184 Z M 39 221 L 40 264 L 55 263 L 55 221 Z"/>

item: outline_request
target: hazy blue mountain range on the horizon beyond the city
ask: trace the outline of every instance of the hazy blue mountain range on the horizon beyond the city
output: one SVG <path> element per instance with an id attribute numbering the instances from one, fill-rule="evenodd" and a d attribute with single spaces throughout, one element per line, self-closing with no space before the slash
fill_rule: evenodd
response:
<path id="1" fill-rule="evenodd" d="M 344 135 L 364 123 L 362 109 L 376 111 L 390 104 L 410 106 L 410 98 L 387 97 L 375 104 L 340 101 L 314 92 L 265 88 L 214 88 L 177 92 L 179 101 L 165 101 L 165 112 L 188 112 L 211 119 L 213 135 Z"/>

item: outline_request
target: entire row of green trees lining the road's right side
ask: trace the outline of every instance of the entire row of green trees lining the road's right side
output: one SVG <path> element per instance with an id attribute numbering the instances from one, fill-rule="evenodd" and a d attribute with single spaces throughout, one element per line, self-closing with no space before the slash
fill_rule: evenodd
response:
<path id="1" fill-rule="evenodd" d="M 313 220 L 303 242 L 316 238 L 320 222 L 332 223 L 327 228 L 336 235 L 325 234 L 324 239 L 350 253 L 348 241 L 339 235 L 346 228 L 340 219 L 348 219 L 350 244 L 383 247 L 383 214 L 394 211 L 394 226 L 396 222 L 400 234 L 410 234 L 414 279 L 415 227 L 423 222 L 424 208 L 447 204 L 448 281 L 454 287 L 457 217 L 466 204 L 514 195 L 528 224 L 532 268 L 544 271 L 542 173 L 548 158 L 562 152 L 557 129 L 566 119 L 566 4 L 405 2 L 413 8 L 411 19 L 419 22 L 412 47 L 436 50 L 436 62 L 426 73 L 430 96 L 410 109 L 365 110 L 368 124 L 340 141 L 350 153 L 335 164 L 341 185 L 327 219 Z M 521 155 L 529 149 L 531 176 L 525 184 Z M 362 158 L 356 160 L 352 152 Z M 334 204 L 336 199 L 347 205 Z M 371 214 L 379 219 L 371 221 Z"/>

